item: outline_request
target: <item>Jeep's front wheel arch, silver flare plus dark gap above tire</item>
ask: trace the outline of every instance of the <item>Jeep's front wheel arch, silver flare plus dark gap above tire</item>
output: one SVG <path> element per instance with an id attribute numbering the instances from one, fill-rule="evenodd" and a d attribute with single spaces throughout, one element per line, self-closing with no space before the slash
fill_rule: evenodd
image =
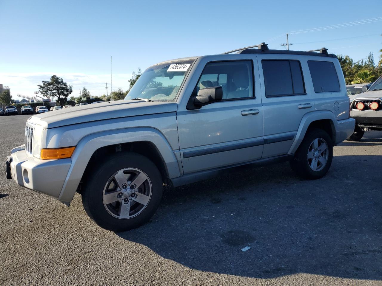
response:
<path id="1" fill-rule="evenodd" d="M 58 199 L 69 205 L 91 167 L 102 163 L 107 154 L 131 151 L 149 157 L 157 165 L 164 182 L 179 177 L 181 170 L 174 151 L 162 133 L 153 128 L 109 130 L 88 135 L 79 141 Z"/>

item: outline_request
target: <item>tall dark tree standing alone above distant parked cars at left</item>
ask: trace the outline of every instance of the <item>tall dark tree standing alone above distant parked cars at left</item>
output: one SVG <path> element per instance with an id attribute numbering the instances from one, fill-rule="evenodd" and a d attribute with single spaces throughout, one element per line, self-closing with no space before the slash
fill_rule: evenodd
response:
<path id="1" fill-rule="evenodd" d="M 43 80 L 42 84 L 37 87 L 42 95 L 49 96 L 51 99 L 56 98 L 56 102 L 61 106 L 66 103 L 68 96 L 72 93 L 72 86 L 58 76 L 51 76 L 50 80 Z"/>

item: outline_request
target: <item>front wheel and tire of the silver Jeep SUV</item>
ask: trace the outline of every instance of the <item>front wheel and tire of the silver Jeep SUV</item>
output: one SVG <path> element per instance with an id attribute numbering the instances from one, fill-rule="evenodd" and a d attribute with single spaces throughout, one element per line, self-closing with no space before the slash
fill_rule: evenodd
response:
<path id="1" fill-rule="evenodd" d="M 81 192 L 89 217 L 112 231 L 146 223 L 162 198 L 162 177 L 155 164 L 136 153 L 118 153 L 100 164 Z"/>

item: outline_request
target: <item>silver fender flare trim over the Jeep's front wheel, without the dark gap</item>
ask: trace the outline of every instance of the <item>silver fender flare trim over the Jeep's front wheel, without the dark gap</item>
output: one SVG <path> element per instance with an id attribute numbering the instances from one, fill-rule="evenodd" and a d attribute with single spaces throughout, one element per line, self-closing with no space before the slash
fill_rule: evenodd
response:
<path id="1" fill-rule="evenodd" d="M 157 129 L 139 127 L 93 133 L 82 138 L 76 146 L 71 157 L 72 163 L 60 195 L 58 196 L 58 200 L 69 206 L 84 174 L 87 163 L 97 149 L 104 146 L 137 141 L 153 143 L 162 157 L 167 175 L 170 179 L 181 175 L 178 161 L 171 146 Z"/>

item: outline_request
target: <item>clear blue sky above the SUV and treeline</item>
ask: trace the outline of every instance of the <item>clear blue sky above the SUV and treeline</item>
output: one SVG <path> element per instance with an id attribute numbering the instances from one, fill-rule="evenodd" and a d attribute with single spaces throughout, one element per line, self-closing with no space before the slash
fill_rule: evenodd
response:
<path id="1" fill-rule="evenodd" d="M 32 96 L 53 74 L 94 96 L 126 90 L 138 67 L 166 59 L 222 53 L 286 32 L 380 17 L 382 2 L 359 1 L 17 1 L 0 0 L 0 83 Z M 353 59 L 382 48 L 382 21 L 290 35 L 292 50 L 327 47 Z M 281 36 L 282 35 L 282 36 Z M 275 37 L 280 36 L 276 39 Z M 110 91 L 110 89 L 109 89 Z"/>

